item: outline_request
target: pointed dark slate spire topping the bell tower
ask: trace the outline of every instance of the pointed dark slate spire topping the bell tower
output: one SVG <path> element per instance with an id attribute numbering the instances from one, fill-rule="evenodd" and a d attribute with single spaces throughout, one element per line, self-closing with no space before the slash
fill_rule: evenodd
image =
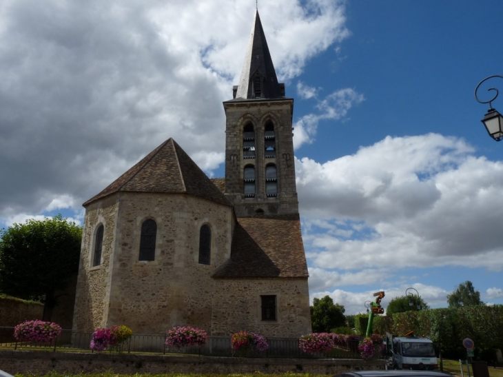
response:
<path id="1" fill-rule="evenodd" d="M 234 95 L 238 99 L 275 99 L 285 96 L 285 84 L 278 83 L 271 54 L 267 47 L 258 10 L 246 50 L 239 85 Z"/>

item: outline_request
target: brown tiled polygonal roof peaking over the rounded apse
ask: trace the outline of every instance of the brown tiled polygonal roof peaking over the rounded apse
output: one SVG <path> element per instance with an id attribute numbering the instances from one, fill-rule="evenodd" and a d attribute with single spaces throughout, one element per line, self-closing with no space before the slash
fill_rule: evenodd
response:
<path id="1" fill-rule="evenodd" d="M 168 139 L 83 205 L 114 192 L 183 192 L 232 205 L 187 153 Z"/>

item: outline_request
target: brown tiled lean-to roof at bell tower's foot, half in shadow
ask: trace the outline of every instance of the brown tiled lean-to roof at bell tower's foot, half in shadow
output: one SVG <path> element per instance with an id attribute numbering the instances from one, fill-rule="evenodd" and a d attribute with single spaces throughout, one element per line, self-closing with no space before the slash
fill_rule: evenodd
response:
<path id="1" fill-rule="evenodd" d="M 298 214 L 237 219 L 231 258 L 214 278 L 307 278 Z"/>

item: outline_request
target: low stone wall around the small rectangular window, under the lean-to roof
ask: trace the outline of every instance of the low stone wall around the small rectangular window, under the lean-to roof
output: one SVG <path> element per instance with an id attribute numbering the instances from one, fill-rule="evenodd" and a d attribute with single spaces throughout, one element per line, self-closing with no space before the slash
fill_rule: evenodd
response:
<path id="1" fill-rule="evenodd" d="M 311 332 L 307 278 L 218 279 L 214 336 L 251 331 L 264 336 L 298 338 Z M 262 295 L 276 295 L 277 320 L 261 320 Z"/>

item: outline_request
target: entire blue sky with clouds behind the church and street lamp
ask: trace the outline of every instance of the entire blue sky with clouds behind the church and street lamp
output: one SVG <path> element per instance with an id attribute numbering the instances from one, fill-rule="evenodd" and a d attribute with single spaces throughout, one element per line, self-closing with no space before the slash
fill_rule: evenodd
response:
<path id="1" fill-rule="evenodd" d="M 168 137 L 223 176 L 255 1 L 0 5 L 0 226 L 81 203 Z M 347 313 L 466 280 L 503 303 L 503 143 L 473 90 L 503 74 L 499 1 L 259 1 L 295 99 L 311 298 Z M 218 28 L 215 26 L 218 25 Z M 503 88 L 503 79 L 489 85 Z M 480 96 L 484 96 L 482 88 Z M 503 110 L 503 97 L 493 105 Z M 501 111 L 500 110 L 500 111 Z"/>

